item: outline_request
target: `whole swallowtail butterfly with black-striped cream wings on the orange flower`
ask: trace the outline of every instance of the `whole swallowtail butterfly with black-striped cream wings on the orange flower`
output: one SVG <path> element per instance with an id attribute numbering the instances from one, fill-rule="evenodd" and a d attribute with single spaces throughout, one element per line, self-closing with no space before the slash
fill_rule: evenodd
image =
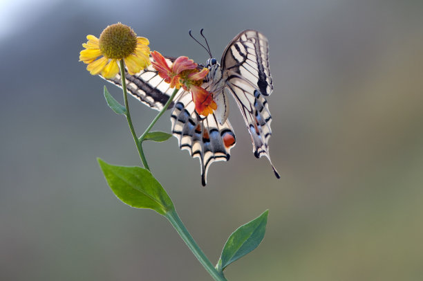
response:
<path id="1" fill-rule="evenodd" d="M 220 64 L 208 52 L 211 58 L 205 66 L 198 64 L 198 69 L 209 69 L 201 87 L 213 94 L 217 109 L 207 117 L 201 116 L 195 110 L 191 93 L 182 88 L 178 91 L 169 109 L 172 109 L 171 132 L 178 138 L 180 149 L 187 149 L 192 157 L 200 159 L 201 183 L 206 185 L 209 166 L 214 161 L 228 161 L 230 149 L 236 144 L 228 120 L 230 95 L 243 114 L 252 138 L 254 156 L 266 156 L 276 178 L 280 179 L 270 160 L 268 145 L 272 116 L 265 97 L 272 93 L 273 84 L 267 38 L 256 30 L 242 31 L 229 42 Z M 166 57 L 166 60 L 171 65 L 176 59 Z M 122 87 L 120 73 L 107 80 Z M 173 92 L 151 65 L 135 75 L 126 73 L 126 88 L 145 105 L 159 111 Z"/>

